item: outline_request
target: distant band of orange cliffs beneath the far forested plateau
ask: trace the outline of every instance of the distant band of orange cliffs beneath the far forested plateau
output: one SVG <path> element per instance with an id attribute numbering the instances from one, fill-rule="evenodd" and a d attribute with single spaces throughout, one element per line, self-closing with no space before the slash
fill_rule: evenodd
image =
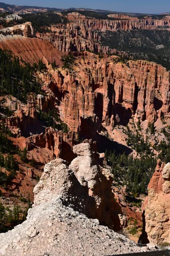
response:
<path id="1" fill-rule="evenodd" d="M 37 37 L 51 42 L 58 50 L 64 52 L 82 52 L 88 49 L 95 53 L 113 54 L 120 51 L 103 46 L 99 32 L 131 31 L 137 29 L 157 30 L 159 28 L 168 30 L 170 28 L 170 16 L 168 15 L 161 20 L 154 20 L 150 17 L 145 19 L 133 17 L 131 19 L 98 20 L 78 16 L 77 13 L 73 12 L 68 14 L 66 18 L 69 20 L 69 23 L 66 25 L 57 24 L 52 26 L 50 28 L 51 32 L 38 32 Z"/>

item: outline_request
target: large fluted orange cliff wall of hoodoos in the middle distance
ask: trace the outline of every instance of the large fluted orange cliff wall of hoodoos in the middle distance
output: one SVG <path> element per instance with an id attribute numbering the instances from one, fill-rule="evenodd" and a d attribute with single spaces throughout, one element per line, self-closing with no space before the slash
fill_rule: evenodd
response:
<path id="1" fill-rule="evenodd" d="M 169 116 L 170 73 L 165 68 L 147 61 L 129 61 L 127 67 L 115 63 L 116 57 L 85 55 L 85 61 L 76 61 L 77 76 L 52 73 L 51 90 L 61 100 L 61 119 L 72 131 L 94 138 L 101 124 L 112 127 L 117 117 L 127 125 L 133 115 L 149 122 Z"/>

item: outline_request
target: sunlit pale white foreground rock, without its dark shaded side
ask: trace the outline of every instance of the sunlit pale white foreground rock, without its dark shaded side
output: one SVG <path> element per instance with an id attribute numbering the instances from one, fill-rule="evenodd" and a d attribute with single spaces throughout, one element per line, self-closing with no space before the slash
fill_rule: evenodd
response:
<path id="1" fill-rule="evenodd" d="M 73 163 L 80 166 L 80 157 L 83 156 L 88 171 L 92 165 L 91 153 L 83 153 L 82 148 L 89 149 L 90 145 L 84 143 L 75 146 L 81 154 Z M 72 168 L 73 163 L 70 165 Z M 76 171 L 82 180 L 78 166 Z M 97 169 L 93 166 L 94 177 L 95 171 Z M 94 177 L 86 180 L 91 189 L 95 186 Z M 0 234 L 0 256 L 105 256 L 142 251 L 125 236 L 99 225 L 97 219 L 87 218 L 67 206 L 71 201 L 69 191 L 74 179 L 71 169 L 61 159 L 45 166 L 40 182 L 34 189 L 35 203 L 29 209 L 26 221 Z"/>

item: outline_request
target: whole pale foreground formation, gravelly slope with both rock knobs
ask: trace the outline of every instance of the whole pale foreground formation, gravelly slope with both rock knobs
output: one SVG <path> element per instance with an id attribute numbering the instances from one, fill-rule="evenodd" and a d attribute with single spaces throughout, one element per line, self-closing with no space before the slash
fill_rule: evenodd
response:
<path id="1" fill-rule="evenodd" d="M 106 191 L 109 175 L 106 177 L 105 171 L 95 165 L 89 143 L 75 146 L 74 151 L 78 157 L 69 167 L 62 159 L 45 166 L 27 220 L 0 234 L 0 255 L 97 256 L 142 251 L 124 236 L 100 226 L 103 214 L 104 222 L 115 221 L 112 214 L 118 214 L 111 191 Z M 101 212 L 101 204 L 105 204 L 105 212 Z M 94 209 L 100 212 L 96 216 L 100 221 L 86 217 Z"/>

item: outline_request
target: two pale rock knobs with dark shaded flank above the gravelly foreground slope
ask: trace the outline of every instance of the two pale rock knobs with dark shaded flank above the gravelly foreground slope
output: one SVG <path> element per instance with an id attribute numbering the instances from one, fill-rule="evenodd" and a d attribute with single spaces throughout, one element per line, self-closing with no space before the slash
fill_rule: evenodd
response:
<path id="1" fill-rule="evenodd" d="M 113 177 L 98 165 L 99 155 L 94 150 L 93 143 L 78 144 L 73 147 L 73 152 L 78 157 L 72 160 L 69 167 L 61 159 L 47 164 L 40 183 L 34 189 L 35 204 L 46 202 L 49 197 L 52 199 L 62 191 L 67 194 L 69 206 L 89 218 L 98 218 L 101 224 L 120 230 L 127 224 L 126 217 L 123 216 L 112 193 Z M 49 170 L 52 172 L 49 173 Z M 61 175 L 62 179 L 56 175 Z"/>

